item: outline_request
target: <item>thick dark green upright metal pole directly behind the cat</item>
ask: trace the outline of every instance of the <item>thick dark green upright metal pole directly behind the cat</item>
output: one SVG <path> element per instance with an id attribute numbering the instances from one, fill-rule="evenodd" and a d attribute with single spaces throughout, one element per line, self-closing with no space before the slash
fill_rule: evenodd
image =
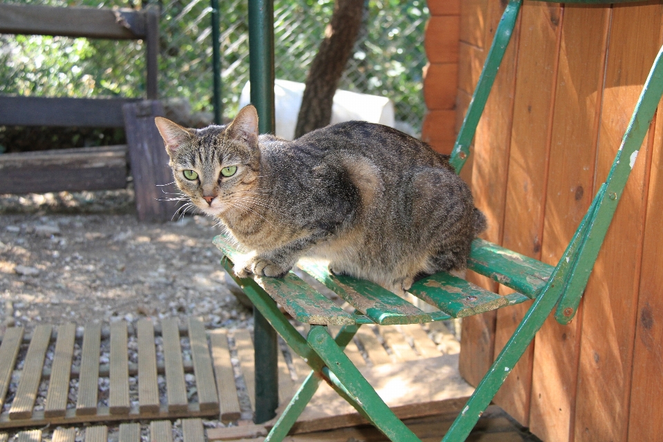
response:
<path id="1" fill-rule="evenodd" d="M 258 109 L 258 131 L 274 133 L 274 6 L 272 0 L 249 0 L 249 81 L 251 102 Z M 256 423 L 276 416 L 278 369 L 276 332 L 253 309 L 256 352 Z"/>

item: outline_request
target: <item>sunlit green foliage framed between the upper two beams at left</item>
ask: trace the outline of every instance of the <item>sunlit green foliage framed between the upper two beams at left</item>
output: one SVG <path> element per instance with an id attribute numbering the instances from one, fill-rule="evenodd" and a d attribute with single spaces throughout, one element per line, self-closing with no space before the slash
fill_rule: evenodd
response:
<path id="1" fill-rule="evenodd" d="M 19 0 L 45 6 L 128 6 L 94 0 Z M 142 41 L 0 35 L 0 93 L 58 97 L 122 95 L 145 90 Z"/>

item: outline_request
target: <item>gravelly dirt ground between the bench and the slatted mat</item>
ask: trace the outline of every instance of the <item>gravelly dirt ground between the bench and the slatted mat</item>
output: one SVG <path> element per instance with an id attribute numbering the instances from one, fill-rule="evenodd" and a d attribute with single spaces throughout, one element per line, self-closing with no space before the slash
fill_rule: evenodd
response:
<path id="1" fill-rule="evenodd" d="M 198 316 L 209 327 L 249 326 L 209 218 L 139 223 L 131 191 L 2 195 L 0 213 L 0 323 Z"/>

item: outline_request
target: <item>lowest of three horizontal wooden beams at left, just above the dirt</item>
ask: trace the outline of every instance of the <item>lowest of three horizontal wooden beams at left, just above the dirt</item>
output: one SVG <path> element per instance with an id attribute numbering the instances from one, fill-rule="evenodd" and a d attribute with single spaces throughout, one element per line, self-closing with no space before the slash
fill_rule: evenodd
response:
<path id="1" fill-rule="evenodd" d="M 126 146 L 0 155 L 0 193 L 124 189 Z"/>

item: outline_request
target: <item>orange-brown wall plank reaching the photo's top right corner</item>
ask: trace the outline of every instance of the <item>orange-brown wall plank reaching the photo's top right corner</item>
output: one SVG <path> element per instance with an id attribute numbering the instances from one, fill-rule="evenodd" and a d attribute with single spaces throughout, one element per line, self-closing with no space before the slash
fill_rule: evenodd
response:
<path id="1" fill-rule="evenodd" d="M 597 183 L 608 175 L 658 52 L 662 12 L 659 4 L 613 8 L 599 123 Z M 646 207 L 647 144 L 645 138 L 584 296 L 576 441 L 626 440 Z"/>

